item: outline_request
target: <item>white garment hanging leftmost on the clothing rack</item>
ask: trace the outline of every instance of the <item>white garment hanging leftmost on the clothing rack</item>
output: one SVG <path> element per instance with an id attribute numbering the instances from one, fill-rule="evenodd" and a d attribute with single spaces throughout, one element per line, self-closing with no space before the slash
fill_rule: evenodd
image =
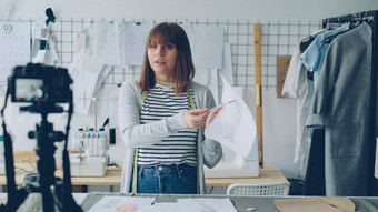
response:
<path id="1" fill-rule="evenodd" d="M 284 97 L 297 99 L 297 137 L 294 165 L 298 169 L 299 178 L 305 178 L 309 155 L 305 128 L 307 117 L 306 97 L 308 89 L 306 74 L 307 70 L 299 60 L 300 53 L 300 44 L 298 44 L 292 53 L 281 94 Z"/>

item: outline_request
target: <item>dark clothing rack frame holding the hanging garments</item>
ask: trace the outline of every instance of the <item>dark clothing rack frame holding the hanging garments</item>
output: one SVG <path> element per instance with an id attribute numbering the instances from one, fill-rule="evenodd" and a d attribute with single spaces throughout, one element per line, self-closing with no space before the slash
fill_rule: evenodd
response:
<path id="1" fill-rule="evenodd" d="M 345 14 L 340 17 L 332 17 L 322 20 L 322 27 L 326 28 L 329 23 L 361 23 L 366 21 L 372 29 L 372 53 L 371 53 L 371 92 L 370 92 L 370 102 L 371 102 L 371 121 L 370 121 L 370 140 L 371 140 L 371 152 L 370 155 L 372 157 L 371 163 L 369 163 L 369 168 L 371 168 L 371 176 L 372 176 L 372 194 L 376 195 L 378 193 L 378 181 L 374 178 L 374 170 L 375 170 L 375 157 L 376 157 L 376 138 L 378 137 L 378 10 L 372 11 L 361 11 L 350 14 Z"/>

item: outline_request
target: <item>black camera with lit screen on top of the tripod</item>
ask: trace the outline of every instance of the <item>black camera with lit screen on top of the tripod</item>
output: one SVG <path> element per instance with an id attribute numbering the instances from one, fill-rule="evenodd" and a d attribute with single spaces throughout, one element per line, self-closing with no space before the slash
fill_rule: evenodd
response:
<path id="1" fill-rule="evenodd" d="M 16 67 L 9 78 L 12 102 L 66 103 L 72 99 L 68 70 L 40 63 Z"/>

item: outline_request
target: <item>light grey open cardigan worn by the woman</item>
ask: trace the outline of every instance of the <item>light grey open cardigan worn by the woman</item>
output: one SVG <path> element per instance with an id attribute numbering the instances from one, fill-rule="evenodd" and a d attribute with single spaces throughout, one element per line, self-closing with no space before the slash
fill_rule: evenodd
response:
<path id="1" fill-rule="evenodd" d="M 202 84 L 192 83 L 195 102 L 197 108 L 213 108 L 213 97 L 208 88 Z M 123 159 L 121 193 L 129 193 L 132 174 L 135 148 L 148 147 L 161 142 L 162 139 L 179 130 L 188 128 L 183 122 L 182 113 L 179 112 L 160 121 L 140 124 L 140 99 L 141 90 L 137 81 L 125 81 L 119 92 L 119 129 L 126 145 Z M 211 139 L 206 139 L 205 127 L 198 131 L 198 173 L 200 193 L 206 193 L 203 164 L 208 168 L 216 166 L 221 157 L 221 145 Z"/>

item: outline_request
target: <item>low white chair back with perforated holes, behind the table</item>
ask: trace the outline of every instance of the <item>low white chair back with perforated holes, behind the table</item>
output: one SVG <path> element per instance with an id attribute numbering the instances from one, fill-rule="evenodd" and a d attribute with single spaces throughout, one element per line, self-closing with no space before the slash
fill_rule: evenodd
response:
<path id="1" fill-rule="evenodd" d="M 275 183 L 233 183 L 227 188 L 227 195 L 289 195 L 289 184 Z"/>

